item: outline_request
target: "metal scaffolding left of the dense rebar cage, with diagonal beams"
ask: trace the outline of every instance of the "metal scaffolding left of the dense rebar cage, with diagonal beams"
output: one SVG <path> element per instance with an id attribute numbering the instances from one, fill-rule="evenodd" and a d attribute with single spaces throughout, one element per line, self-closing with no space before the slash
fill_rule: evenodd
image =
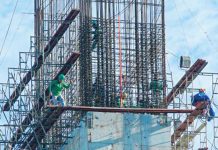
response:
<path id="1" fill-rule="evenodd" d="M 20 52 L 19 67 L 8 69 L 8 82 L 2 88 L 2 112 L 4 125 L 0 126 L 4 139 L 1 148 L 20 149 L 25 138 L 32 133 L 35 125 L 44 118 L 44 105 L 48 102 L 48 84 L 62 73 L 67 80 L 73 80 L 72 87 L 66 92 L 72 94 L 78 91 L 77 49 L 78 30 L 77 19 L 79 11 L 71 6 L 64 10 L 58 18 L 50 18 L 44 11 L 43 1 L 35 2 L 35 36 L 31 37 L 30 51 Z M 42 15 L 44 15 L 42 17 Z M 42 19 L 43 18 L 43 19 Z M 52 28 L 52 29 L 51 29 Z M 76 52 L 77 51 L 77 52 Z M 3 84 L 1 84 L 3 87 Z M 9 95 L 9 98 L 8 98 Z M 66 97 L 69 104 L 79 104 L 78 97 Z M 72 119 L 79 113 L 63 114 L 62 121 Z M 70 122 L 66 130 L 58 130 L 63 137 L 72 131 L 75 120 Z M 7 124 L 7 125 L 6 125 Z M 62 126 L 59 124 L 58 126 Z M 52 133 L 54 134 L 54 132 Z M 36 133 L 34 133 L 34 136 Z M 47 137 L 46 137 L 47 138 Z M 43 142 L 46 142 L 46 138 Z M 37 139 L 37 145 L 42 147 L 42 141 Z M 48 143 L 48 142 L 46 142 Z M 50 142 L 49 145 L 55 145 Z M 62 143 L 59 143 L 61 145 Z M 30 149 L 29 143 L 27 149 Z M 55 146 L 53 146 L 55 147 Z M 52 149 L 52 148 L 51 148 Z"/>

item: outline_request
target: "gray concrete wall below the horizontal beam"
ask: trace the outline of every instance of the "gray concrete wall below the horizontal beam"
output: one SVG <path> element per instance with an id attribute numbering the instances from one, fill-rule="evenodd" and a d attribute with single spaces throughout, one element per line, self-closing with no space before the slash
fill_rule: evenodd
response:
<path id="1" fill-rule="evenodd" d="M 88 113 L 63 150 L 169 150 L 170 126 L 148 114 Z"/>

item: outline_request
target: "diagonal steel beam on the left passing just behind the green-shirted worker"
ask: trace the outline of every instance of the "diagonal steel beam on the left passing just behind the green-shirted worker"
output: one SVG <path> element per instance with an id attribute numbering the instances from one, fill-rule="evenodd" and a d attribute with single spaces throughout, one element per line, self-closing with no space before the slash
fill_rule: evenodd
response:
<path id="1" fill-rule="evenodd" d="M 68 71 L 70 70 L 70 68 L 72 67 L 72 65 L 79 58 L 79 56 L 80 56 L 79 53 L 74 52 L 70 56 L 70 58 L 67 60 L 67 62 L 63 66 L 63 68 L 61 68 L 61 70 L 55 76 L 54 80 L 56 80 L 60 74 L 66 75 L 68 73 Z M 46 93 L 46 96 L 48 96 L 48 94 L 49 94 L 48 88 L 46 89 L 45 93 Z M 30 112 L 27 114 L 26 118 L 22 121 L 20 127 L 16 130 L 16 132 L 13 135 L 13 137 L 11 138 L 11 140 L 10 140 L 11 147 L 15 146 L 16 142 L 22 136 L 22 132 L 25 131 L 26 128 L 28 127 L 28 125 L 31 123 L 31 121 L 33 119 L 33 117 L 32 117 L 33 112 L 39 111 L 43 106 L 44 106 L 44 100 L 42 98 L 39 98 L 38 103 L 36 103 L 33 106 L 33 109 L 30 110 Z"/>

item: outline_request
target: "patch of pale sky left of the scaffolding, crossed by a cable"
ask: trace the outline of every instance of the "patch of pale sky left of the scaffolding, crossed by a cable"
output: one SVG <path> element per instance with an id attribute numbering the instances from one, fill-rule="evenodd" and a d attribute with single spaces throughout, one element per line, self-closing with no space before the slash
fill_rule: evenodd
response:
<path id="1" fill-rule="evenodd" d="M 16 0 L 0 0 L 0 47 L 2 47 Z M 8 67 L 18 67 L 19 52 L 29 51 L 33 35 L 33 0 L 19 0 L 4 48 L 0 55 L 0 82 L 6 82 Z M 0 48 L 1 49 L 1 48 Z M 1 51 L 1 50 L 0 50 Z"/>

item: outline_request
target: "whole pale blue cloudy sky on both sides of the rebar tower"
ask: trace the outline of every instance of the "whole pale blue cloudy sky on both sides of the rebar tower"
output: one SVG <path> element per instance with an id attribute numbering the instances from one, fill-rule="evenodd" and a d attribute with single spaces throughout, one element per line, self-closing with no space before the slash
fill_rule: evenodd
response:
<path id="1" fill-rule="evenodd" d="M 184 74 L 179 66 L 181 55 L 208 61 L 204 71 L 218 72 L 218 1 L 165 0 L 167 68 L 174 82 Z M 16 0 L 0 0 L 0 48 L 7 32 Z M 7 81 L 7 68 L 17 67 L 20 51 L 29 51 L 33 35 L 33 0 L 19 0 L 5 45 L 0 49 L 0 82 Z M 170 68 L 170 69 L 169 69 Z M 210 82 L 199 81 L 198 86 Z M 207 85 L 205 85 L 207 86 Z M 217 101 L 217 100 L 216 100 Z"/>

